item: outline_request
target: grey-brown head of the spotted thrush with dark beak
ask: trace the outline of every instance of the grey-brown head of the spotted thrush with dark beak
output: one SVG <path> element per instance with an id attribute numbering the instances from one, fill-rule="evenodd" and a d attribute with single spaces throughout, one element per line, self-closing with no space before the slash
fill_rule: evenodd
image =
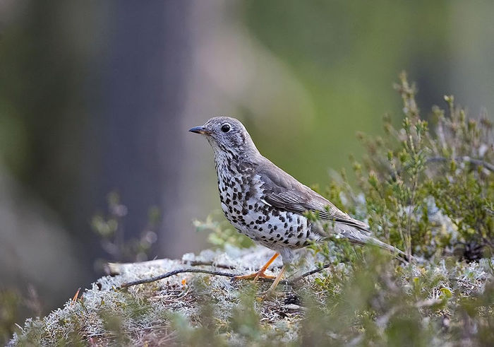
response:
<path id="1" fill-rule="evenodd" d="M 239 119 L 212 117 L 204 125 L 189 131 L 205 135 L 215 152 L 230 152 L 236 155 L 258 153 L 257 148 Z"/>

